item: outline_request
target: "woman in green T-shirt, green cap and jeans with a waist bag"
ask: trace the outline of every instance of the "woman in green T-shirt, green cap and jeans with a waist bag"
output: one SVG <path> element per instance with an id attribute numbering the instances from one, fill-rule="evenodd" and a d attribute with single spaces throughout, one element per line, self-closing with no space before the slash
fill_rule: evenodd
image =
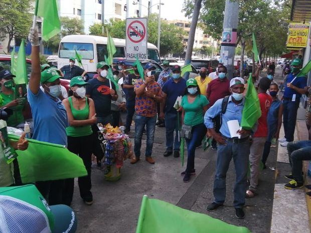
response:
<path id="1" fill-rule="evenodd" d="M 206 96 L 200 94 L 198 83 L 195 79 L 189 79 L 186 83 L 186 94 L 182 99 L 182 122 L 185 125 L 192 126 L 191 139 L 186 138 L 187 143 L 187 168 L 182 172 L 184 175 L 184 182 L 189 182 L 190 176 L 196 173 L 194 169 L 194 159 L 196 147 L 199 146 L 206 134 L 206 127 L 204 125 L 204 114 L 207 111 L 209 101 Z"/>

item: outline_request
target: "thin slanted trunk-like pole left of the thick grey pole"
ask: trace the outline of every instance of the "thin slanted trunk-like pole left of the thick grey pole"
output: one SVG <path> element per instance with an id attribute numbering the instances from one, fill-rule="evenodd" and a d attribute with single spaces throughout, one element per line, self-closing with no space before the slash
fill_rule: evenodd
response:
<path id="1" fill-rule="evenodd" d="M 188 44 L 187 44 L 185 65 L 188 65 L 191 63 L 193 44 L 194 44 L 194 39 L 195 39 L 195 35 L 196 35 L 196 28 L 197 28 L 197 24 L 198 24 L 201 4 L 202 4 L 202 0 L 195 0 L 194 10 L 193 10 L 193 15 L 192 15 L 192 21 L 191 21 L 191 25 L 190 25 Z M 186 80 L 189 78 L 189 72 L 186 72 L 186 75 L 184 78 Z"/>

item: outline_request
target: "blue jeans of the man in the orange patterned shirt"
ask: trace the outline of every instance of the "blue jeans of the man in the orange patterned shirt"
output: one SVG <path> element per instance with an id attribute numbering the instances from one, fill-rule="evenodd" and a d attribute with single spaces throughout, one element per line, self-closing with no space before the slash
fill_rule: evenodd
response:
<path id="1" fill-rule="evenodd" d="M 147 142 L 145 156 L 151 156 L 153 138 L 154 138 L 154 128 L 156 128 L 157 116 L 153 117 L 144 117 L 144 116 L 135 116 L 135 139 L 134 139 L 134 153 L 136 157 L 140 157 L 140 147 L 141 147 L 141 137 L 144 126 L 146 125 L 147 131 Z"/>

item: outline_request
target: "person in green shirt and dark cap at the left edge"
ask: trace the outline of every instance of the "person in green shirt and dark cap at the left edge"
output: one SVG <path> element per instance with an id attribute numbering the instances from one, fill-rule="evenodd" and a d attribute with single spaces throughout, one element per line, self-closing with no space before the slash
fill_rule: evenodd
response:
<path id="1" fill-rule="evenodd" d="M 0 95 L 3 99 L 3 103 L 0 107 L 7 107 L 13 110 L 13 115 L 9 117 L 7 124 L 8 126 L 16 127 L 20 123 L 24 122 L 23 110 L 27 101 L 26 99 L 16 99 L 13 77 L 15 77 L 15 75 L 13 75 L 11 72 L 2 71 L 2 76 L 0 77 Z"/>

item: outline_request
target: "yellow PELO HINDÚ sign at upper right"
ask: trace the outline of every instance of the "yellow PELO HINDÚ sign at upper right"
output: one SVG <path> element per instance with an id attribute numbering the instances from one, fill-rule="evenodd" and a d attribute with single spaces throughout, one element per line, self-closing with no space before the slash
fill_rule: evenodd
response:
<path id="1" fill-rule="evenodd" d="M 309 23 L 289 23 L 287 48 L 305 48 L 309 34 Z"/>

